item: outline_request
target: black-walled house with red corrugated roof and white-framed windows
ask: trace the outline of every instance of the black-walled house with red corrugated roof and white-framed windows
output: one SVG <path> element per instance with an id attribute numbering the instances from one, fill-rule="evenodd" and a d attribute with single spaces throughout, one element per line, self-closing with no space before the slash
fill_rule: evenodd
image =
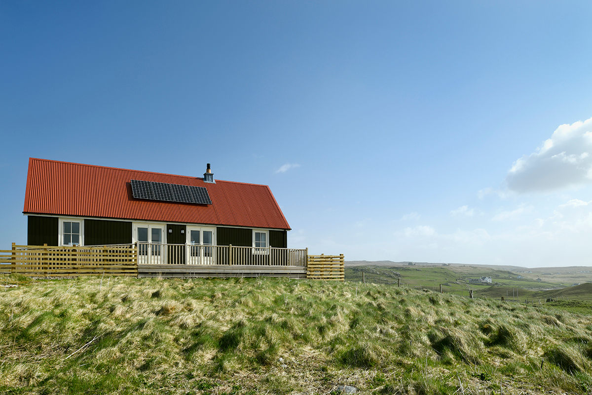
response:
<path id="1" fill-rule="evenodd" d="M 182 176 L 30 158 L 22 212 L 28 245 L 136 244 L 138 264 L 291 265 L 300 251 L 268 186 L 209 163 Z"/>

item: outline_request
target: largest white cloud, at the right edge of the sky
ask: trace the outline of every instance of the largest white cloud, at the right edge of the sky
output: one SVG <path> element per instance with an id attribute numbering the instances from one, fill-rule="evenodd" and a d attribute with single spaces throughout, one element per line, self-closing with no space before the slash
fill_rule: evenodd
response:
<path id="1" fill-rule="evenodd" d="M 514 162 L 506 182 L 516 192 L 554 191 L 592 182 L 592 118 L 559 126 L 542 147 Z"/>

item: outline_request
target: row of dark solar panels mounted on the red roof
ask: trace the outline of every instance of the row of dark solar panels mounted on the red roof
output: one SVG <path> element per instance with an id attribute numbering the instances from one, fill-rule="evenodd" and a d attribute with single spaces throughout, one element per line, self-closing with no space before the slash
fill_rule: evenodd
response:
<path id="1" fill-rule="evenodd" d="M 131 180 L 131 192 L 136 199 L 212 204 L 208 190 L 204 187 L 133 179 Z"/>

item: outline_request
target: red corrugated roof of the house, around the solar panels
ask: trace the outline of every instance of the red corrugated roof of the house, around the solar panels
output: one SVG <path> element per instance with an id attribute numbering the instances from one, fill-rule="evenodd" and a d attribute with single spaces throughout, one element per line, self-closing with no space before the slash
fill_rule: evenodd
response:
<path id="1" fill-rule="evenodd" d="M 131 179 L 205 187 L 212 204 L 136 200 Z M 267 185 L 35 158 L 23 213 L 290 229 Z"/>

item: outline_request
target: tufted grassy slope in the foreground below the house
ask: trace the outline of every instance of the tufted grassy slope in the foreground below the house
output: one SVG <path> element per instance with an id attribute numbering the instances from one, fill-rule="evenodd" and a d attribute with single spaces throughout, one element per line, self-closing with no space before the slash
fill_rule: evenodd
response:
<path id="1" fill-rule="evenodd" d="M 0 287 L 0 393 L 592 391 L 592 317 L 547 305 L 352 282 L 0 277 L 18 282 Z"/>

